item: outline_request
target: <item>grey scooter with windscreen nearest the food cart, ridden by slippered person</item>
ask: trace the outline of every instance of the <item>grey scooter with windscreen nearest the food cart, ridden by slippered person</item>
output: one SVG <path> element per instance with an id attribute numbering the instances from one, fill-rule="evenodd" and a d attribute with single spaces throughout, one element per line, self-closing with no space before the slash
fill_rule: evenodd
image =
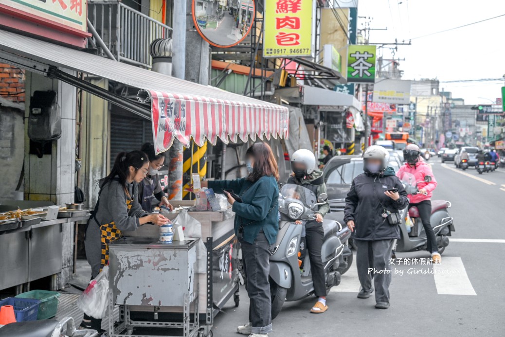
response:
<path id="1" fill-rule="evenodd" d="M 298 252 L 303 226 L 296 224 L 298 219 L 313 220 L 317 206 L 325 203 L 328 196 L 323 193 L 316 200 L 311 190 L 294 184 L 284 185 L 279 193 L 279 233 L 272 256 L 270 257 L 270 292 L 272 297 L 272 319 L 277 317 L 285 301 L 297 301 L 314 293 L 309 254 L 303 261 L 303 270 L 298 264 Z M 342 254 L 350 250 L 339 239 L 348 235 L 338 221 L 324 220 L 324 240 L 321 256 L 326 278 L 326 287 L 340 283 L 340 271 L 350 266 L 342 265 Z M 351 254 L 352 256 L 352 254 Z M 340 269 L 339 269 L 340 268 Z"/>

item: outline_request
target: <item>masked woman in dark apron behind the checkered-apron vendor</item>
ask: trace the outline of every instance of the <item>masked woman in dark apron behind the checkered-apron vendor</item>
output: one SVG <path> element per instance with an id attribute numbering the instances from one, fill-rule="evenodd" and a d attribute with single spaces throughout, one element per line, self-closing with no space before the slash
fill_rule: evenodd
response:
<path id="1" fill-rule="evenodd" d="M 138 186 L 138 199 L 140 205 L 142 205 L 142 209 L 146 212 L 150 212 L 152 209 L 152 201 L 155 197 L 160 201 L 160 207 L 166 206 L 170 210 L 174 209 L 170 202 L 168 202 L 165 192 L 163 192 L 160 176 L 158 175 L 158 171 L 164 166 L 165 156 L 163 154 L 156 154 L 155 147 L 151 143 L 142 145 L 140 151 L 147 154 L 149 158 L 149 172 Z"/>

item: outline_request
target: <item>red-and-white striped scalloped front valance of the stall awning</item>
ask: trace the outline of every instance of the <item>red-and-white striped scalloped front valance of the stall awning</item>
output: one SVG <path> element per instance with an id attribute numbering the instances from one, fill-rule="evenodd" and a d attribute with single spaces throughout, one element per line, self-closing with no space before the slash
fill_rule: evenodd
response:
<path id="1" fill-rule="evenodd" d="M 238 138 L 247 141 L 287 138 L 289 113 L 287 107 L 242 101 L 211 99 L 149 91 L 153 138 L 157 152 L 170 148 L 177 139 L 185 147 L 191 143 L 202 146 L 206 139 L 213 145 L 219 137 L 224 143 Z M 244 97 L 245 98 L 245 97 Z"/>

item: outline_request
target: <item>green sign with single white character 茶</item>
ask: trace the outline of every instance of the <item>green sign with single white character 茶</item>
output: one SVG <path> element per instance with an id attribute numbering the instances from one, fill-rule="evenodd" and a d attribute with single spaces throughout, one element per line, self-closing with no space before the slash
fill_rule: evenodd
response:
<path id="1" fill-rule="evenodd" d="M 352 44 L 347 50 L 347 82 L 374 83 L 376 46 Z"/>

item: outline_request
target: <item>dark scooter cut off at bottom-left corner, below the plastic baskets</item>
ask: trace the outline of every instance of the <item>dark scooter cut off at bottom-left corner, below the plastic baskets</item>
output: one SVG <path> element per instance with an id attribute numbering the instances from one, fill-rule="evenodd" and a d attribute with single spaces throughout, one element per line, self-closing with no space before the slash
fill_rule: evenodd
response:
<path id="1" fill-rule="evenodd" d="M 76 329 L 74 319 L 66 317 L 61 321 L 44 319 L 38 321 L 10 323 L 0 327 L 0 337 L 97 337 L 92 329 Z"/>

